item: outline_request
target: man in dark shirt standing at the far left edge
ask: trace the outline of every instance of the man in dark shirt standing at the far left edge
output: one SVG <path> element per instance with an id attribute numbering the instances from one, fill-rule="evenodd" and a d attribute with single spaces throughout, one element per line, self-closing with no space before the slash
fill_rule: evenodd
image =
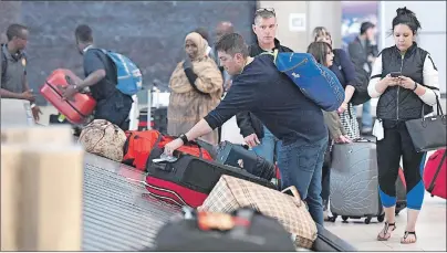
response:
<path id="1" fill-rule="evenodd" d="M 1 45 L 1 97 L 29 101 L 35 122 L 42 112 L 35 105 L 35 97 L 28 84 L 27 54 L 28 28 L 22 24 L 8 27 L 7 43 Z M 3 38 L 4 40 L 4 38 Z"/>

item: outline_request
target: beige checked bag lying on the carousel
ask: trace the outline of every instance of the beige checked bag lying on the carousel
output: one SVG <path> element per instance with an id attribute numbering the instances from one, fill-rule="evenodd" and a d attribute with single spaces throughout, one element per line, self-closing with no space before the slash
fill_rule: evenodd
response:
<path id="1" fill-rule="evenodd" d="M 288 191 L 292 196 L 282 193 Z M 230 213 L 249 207 L 277 219 L 292 234 L 295 246 L 311 249 L 316 239 L 315 222 L 294 187 L 282 192 L 224 175 L 197 210 Z"/>

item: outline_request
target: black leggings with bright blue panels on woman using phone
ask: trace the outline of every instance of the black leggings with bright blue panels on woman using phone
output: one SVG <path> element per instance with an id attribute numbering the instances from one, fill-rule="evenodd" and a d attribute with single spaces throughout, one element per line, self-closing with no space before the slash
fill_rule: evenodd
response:
<path id="1" fill-rule="evenodd" d="M 382 204 L 396 204 L 396 180 L 401 157 L 407 190 L 408 209 L 420 210 L 425 188 L 422 180 L 425 154 L 417 152 L 405 122 L 384 120 L 384 138 L 377 141 L 378 186 Z"/>

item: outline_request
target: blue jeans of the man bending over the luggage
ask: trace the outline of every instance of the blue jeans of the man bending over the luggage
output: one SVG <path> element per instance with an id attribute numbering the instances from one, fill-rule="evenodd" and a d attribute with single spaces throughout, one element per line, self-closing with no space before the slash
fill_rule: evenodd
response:
<path id="1" fill-rule="evenodd" d="M 305 200 L 312 219 L 323 225 L 321 177 L 328 136 L 313 144 L 295 141 L 282 145 L 278 158 L 282 189 L 294 186 Z"/>

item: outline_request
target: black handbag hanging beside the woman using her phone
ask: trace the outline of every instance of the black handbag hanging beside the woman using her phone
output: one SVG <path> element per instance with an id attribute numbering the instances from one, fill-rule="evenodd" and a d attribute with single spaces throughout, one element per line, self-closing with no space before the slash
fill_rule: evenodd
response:
<path id="1" fill-rule="evenodd" d="M 410 119 L 405 122 L 409 136 L 412 137 L 413 145 L 416 151 L 432 151 L 440 148 L 446 148 L 446 127 L 447 119 L 440 107 L 439 97 L 436 95 L 437 113 L 438 115 Z"/>

